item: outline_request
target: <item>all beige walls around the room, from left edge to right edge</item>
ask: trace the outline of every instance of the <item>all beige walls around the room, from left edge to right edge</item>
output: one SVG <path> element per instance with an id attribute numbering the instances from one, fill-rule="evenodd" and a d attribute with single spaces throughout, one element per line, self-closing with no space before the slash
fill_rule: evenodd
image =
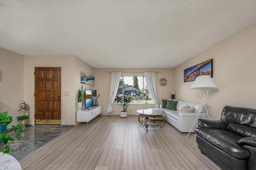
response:
<path id="1" fill-rule="evenodd" d="M 105 69 L 92 68 L 76 56 L 22 56 L 0 48 L 0 110 L 8 110 L 14 117 L 13 125 L 22 100 L 31 109 L 30 124 L 34 124 L 34 67 L 62 67 L 62 125 L 76 125 L 77 91 L 81 88 L 80 71 L 95 77 L 95 86 L 84 85 L 85 89 L 97 90 L 100 94 L 99 105 L 102 105 L 103 115 L 106 115 L 110 90 L 111 74 L 106 72 L 161 72 L 156 74 L 158 102 L 162 98 L 170 98 L 174 91 L 177 100 L 202 102 L 197 90 L 191 90 L 193 82 L 183 82 L 184 69 L 214 59 L 212 78 L 218 89 L 210 90 L 206 99 L 207 109 L 211 119 L 220 119 L 224 106 L 241 106 L 256 108 L 256 23 L 242 29 L 220 43 L 210 47 L 192 59 L 180 64 L 174 69 Z M 175 76 L 174 76 L 175 75 Z M 166 78 L 168 84 L 160 86 L 160 78 Z M 64 96 L 69 92 L 69 96 Z M 83 103 L 84 106 L 84 103 Z M 122 106 L 112 104 L 110 115 L 119 115 Z M 136 115 L 136 110 L 154 107 L 153 104 L 130 104 L 129 115 Z"/>

